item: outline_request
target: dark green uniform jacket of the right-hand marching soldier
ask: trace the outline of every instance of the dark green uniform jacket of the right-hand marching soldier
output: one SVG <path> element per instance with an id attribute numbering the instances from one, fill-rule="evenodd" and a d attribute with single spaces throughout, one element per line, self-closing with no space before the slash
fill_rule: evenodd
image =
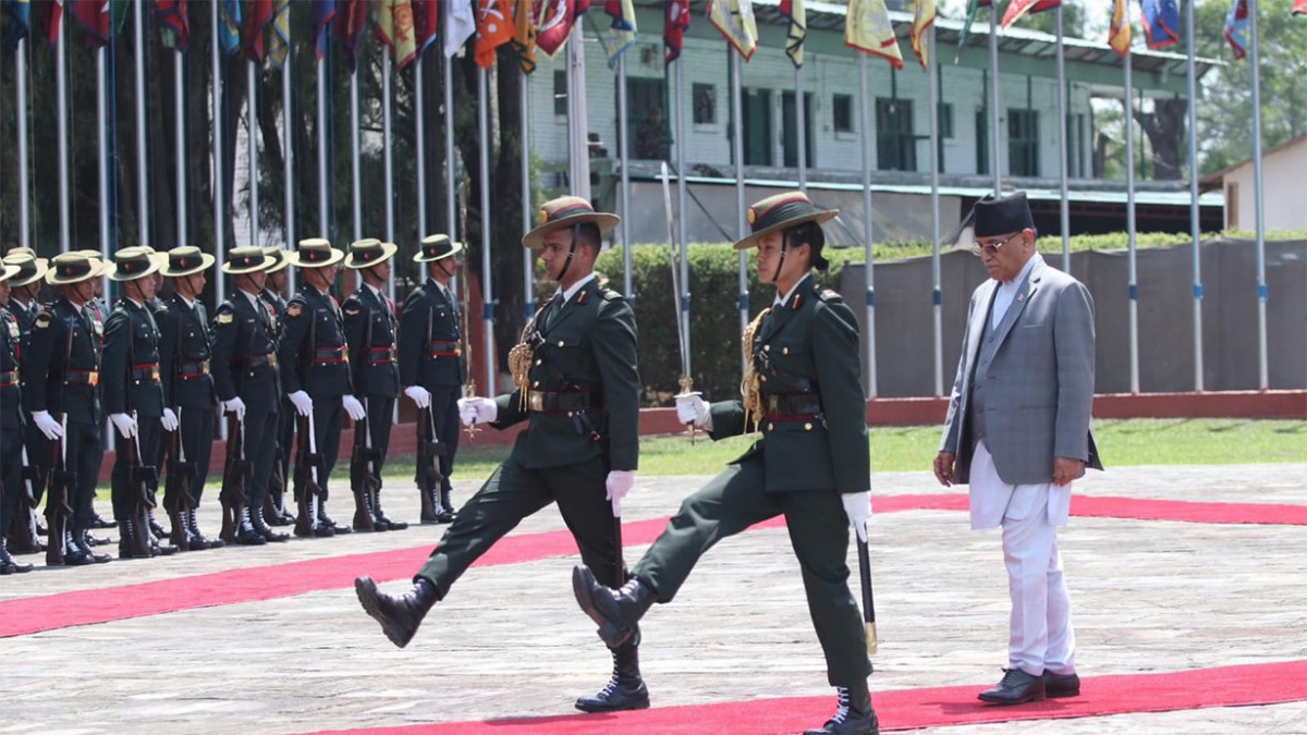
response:
<path id="1" fill-rule="evenodd" d="M 754 335 L 754 369 L 763 411 L 776 394 L 816 391 L 813 417 L 763 416 L 762 438 L 736 462 L 762 455 L 767 492 L 860 493 L 870 487 L 867 400 L 857 352 L 857 320 L 840 296 L 805 279 Z M 745 432 L 744 403 L 714 403 L 714 439 Z"/>

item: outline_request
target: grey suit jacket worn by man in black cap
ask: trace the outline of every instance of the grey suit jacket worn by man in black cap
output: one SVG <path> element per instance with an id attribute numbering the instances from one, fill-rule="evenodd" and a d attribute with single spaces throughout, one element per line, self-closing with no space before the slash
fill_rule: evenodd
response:
<path id="1" fill-rule="evenodd" d="M 999 326 L 984 330 L 999 282 L 971 294 L 962 357 L 944 424 L 941 451 L 958 458 L 954 479 L 970 481 L 971 386 L 985 381 L 985 446 L 1010 485 L 1052 481 L 1053 458 L 1102 470 L 1090 413 L 1094 405 L 1094 298 L 1076 279 L 1042 259 L 1018 286 Z"/>

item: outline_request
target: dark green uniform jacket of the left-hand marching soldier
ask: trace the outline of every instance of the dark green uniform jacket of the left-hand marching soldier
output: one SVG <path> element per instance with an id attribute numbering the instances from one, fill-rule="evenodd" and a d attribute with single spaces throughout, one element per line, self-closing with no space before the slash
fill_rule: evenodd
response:
<path id="1" fill-rule="evenodd" d="M 538 470 L 586 462 L 608 454 L 610 470 L 635 470 L 639 460 L 640 378 L 635 368 L 635 314 L 622 294 L 593 280 L 567 303 L 541 307 L 528 335 L 538 333 L 531 366 L 532 390 L 603 392 L 603 408 L 584 412 L 523 409 L 520 390 L 495 399 L 497 429 L 531 425 L 512 449 L 524 467 Z M 599 441 L 591 432 L 599 434 Z"/>

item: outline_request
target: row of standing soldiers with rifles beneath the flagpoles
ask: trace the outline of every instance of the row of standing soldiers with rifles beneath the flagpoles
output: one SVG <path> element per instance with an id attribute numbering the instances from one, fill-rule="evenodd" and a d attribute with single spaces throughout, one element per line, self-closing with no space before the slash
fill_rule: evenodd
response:
<path id="1" fill-rule="evenodd" d="M 196 247 L 128 247 L 111 262 L 97 251 L 47 262 L 10 250 L 0 260 L 0 574 L 30 570 L 14 555 L 42 551 L 51 566 L 107 562 L 94 547 L 111 541 L 91 532 L 115 526 L 119 558 L 289 540 L 274 526 L 308 538 L 406 528 L 380 502 L 401 387 L 420 413 L 421 521 L 448 523 L 467 374 L 451 290 L 461 248 L 446 235 L 423 239 L 413 259 L 427 279 L 397 310 L 384 292 L 393 243 L 365 239 L 348 252 L 320 238 L 293 251 L 237 247 L 221 267 L 231 296 L 212 320 L 200 294 L 214 258 Z M 301 289 L 286 302 L 291 265 Z M 329 293 L 340 265 L 362 280 L 344 303 Z M 120 290 L 112 310 L 101 301 L 106 277 Z M 354 515 L 337 523 L 327 513 L 328 479 L 345 415 L 356 428 Z M 116 434 L 114 522 L 94 506 L 106 417 Z M 220 420 L 229 429 L 222 527 L 210 536 L 196 511 Z"/>

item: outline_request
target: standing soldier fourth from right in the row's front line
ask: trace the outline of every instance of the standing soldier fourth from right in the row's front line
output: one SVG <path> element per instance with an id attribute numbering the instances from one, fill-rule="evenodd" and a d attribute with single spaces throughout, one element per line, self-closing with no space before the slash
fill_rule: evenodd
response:
<path id="1" fill-rule="evenodd" d="M 213 387 L 223 412 L 240 424 L 240 442 L 234 451 L 243 453 L 254 464 L 244 502 L 222 498 L 223 514 L 234 521 L 230 538 L 223 540 L 243 545 L 286 540 L 285 534 L 273 532 L 263 518 L 263 494 L 277 454 L 277 402 L 281 398 L 276 327 L 268 305 L 259 298 L 264 269 L 271 264 L 272 259 L 260 247 L 235 247 L 227 252 L 222 272 L 231 276 L 235 292 L 218 306 L 213 318 Z"/>

